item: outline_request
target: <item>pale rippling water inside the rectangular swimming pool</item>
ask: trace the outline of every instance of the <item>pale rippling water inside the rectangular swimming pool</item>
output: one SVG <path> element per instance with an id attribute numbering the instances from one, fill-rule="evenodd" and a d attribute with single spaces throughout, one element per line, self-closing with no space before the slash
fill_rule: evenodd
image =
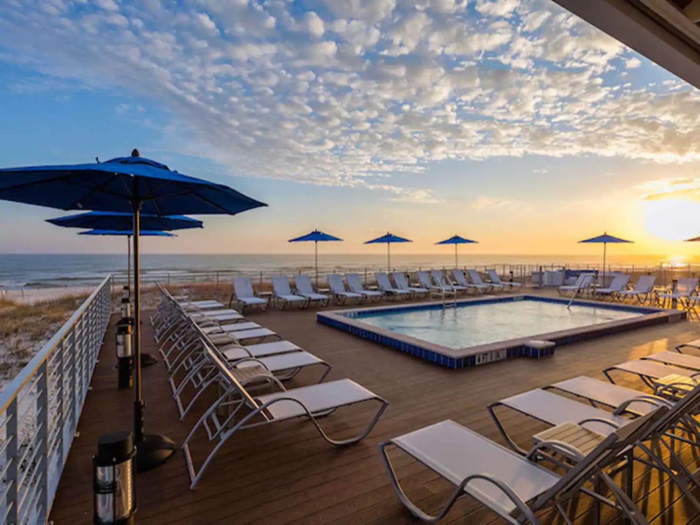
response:
<path id="1" fill-rule="evenodd" d="M 451 349 L 643 316 L 637 311 L 538 300 L 464 304 L 456 308 L 358 312 L 363 323 Z"/>

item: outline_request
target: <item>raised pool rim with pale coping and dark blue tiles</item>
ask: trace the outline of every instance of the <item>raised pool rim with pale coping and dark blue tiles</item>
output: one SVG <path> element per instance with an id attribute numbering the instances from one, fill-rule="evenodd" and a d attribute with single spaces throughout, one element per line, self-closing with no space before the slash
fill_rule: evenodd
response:
<path id="1" fill-rule="evenodd" d="M 456 300 L 456 304 L 489 304 L 493 302 L 513 302 L 518 300 L 536 300 L 542 302 L 568 304 L 570 298 L 542 297 L 540 295 L 521 293 L 504 295 L 500 297 L 496 295 L 483 295 L 481 297 L 458 299 Z M 450 301 L 449 304 L 453 304 L 453 302 Z M 467 346 L 461 349 L 452 349 L 447 346 L 431 343 L 409 335 L 399 334 L 397 332 L 392 332 L 391 330 L 384 330 L 383 328 L 377 328 L 367 323 L 363 323 L 361 318 L 351 318 L 348 316 L 349 314 L 367 311 L 379 312 L 439 309 L 443 306 L 442 301 L 421 302 L 417 304 L 390 304 L 377 307 L 358 307 L 344 310 L 323 311 L 316 314 L 316 321 L 339 330 L 344 330 L 345 332 L 362 337 L 363 339 L 369 339 L 370 341 L 374 341 L 379 344 L 391 346 L 394 349 L 398 349 L 433 363 L 450 368 L 463 368 L 489 363 L 495 360 L 503 360 L 524 355 L 532 356 L 531 353 L 528 353 L 529 347 L 527 346 L 527 343 L 534 340 L 552 341 L 556 344 L 555 347 L 558 347 L 564 344 L 573 344 L 576 342 L 587 341 L 589 339 L 595 339 L 596 337 L 604 337 L 606 335 L 626 332 L 636 328 L 643 328 L 662 323 L 675 323 L 687 318 L 687 312 L 685 311 L 659 309 L 641 305 L 623 305 L 585 299 L 575 299 L 572 304 L 586 307 L 636 311 L 643 314 L 643 316 L 620 319 L 617 321 L 608 321 L 607 323 L 582 326 L 580 328 L 570 328 L 568 330 L 556 330 L 554 332 L 546 332 L 528 337 L 517 337 L 514 339 L 479 344 L 476 346 Z M 552 349 L 552 351 L 549 353 L 545 353 L 544 355 L 550 355 L 553 352 L 554 349 Z M 543 355 L 538 354 L 538 357 L 542 356 Z"/>

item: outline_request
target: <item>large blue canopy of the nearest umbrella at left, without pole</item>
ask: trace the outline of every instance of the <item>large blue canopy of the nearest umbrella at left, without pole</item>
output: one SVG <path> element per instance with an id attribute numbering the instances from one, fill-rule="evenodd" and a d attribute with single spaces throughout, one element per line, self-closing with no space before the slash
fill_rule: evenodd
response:
<path id="1" fill-rule="evenodd" d="M 64 210 L 163 215 L 239 214 L 267 206 L 236 190 L 142 157 L 94 164 L 0 169 L 0 199 Z"/>

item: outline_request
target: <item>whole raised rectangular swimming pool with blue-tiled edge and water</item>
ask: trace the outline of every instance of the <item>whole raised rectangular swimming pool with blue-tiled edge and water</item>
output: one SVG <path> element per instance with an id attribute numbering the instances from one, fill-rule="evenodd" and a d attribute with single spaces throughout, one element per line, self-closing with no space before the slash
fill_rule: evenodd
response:
<path id="1" fill-rule="evenodd" d="M 679 321 L 679 311 L 536 295 L 479 297 L 319 312 L 318 321 L 453 368 L 517 356 L 642 326 Z M 554 345 L 540 344 L 542 340 Z M 547 346 L 546 350 L 538 349 Z M 537 351 L 534 351 L 537 349 Z"/>

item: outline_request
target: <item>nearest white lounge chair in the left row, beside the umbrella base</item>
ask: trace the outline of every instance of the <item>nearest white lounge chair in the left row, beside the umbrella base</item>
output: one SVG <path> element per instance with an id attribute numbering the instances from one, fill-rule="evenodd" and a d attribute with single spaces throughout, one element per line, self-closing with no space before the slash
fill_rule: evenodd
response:
<path id="1" fill-rule="evenodd" d="M 218 384 L 225 385 L 225 392 L 204 412 L 202 417 L 195 423 L 195 426 L 190 431 L 182 449 L 187 462 L 187 470 L 190 475 L 190 489 L 194 489 L 197 482 L 200 481 L 204 470 L 207 469 L 218 449 L 235 433 L 246 428 L 255 426 L 270 425 L 277 421 L 286 421 L 289 419 L 310 419 L 318 429 L 321 437 L 328 443 L 342 447 L 356 443 L 366 437 L 372 428 L 377 424 L 381 414 L 384 413 L 388 403 L 379 397 L 379 395 L 367 390 L 360 384 L 357 384 L 351 379 L 339 379 L 328 383 L 315 384 L 312 386 L 303 386 L 301 388 L 293 388 L 285 390 L 281 384 L 277 386 L 281 389 L 279 392 L 269 393 L 265 395 L 251 395 L 246 390 L 245 386 L 236 379 L 230 367 L 219 358 L 211 348 L 204 346 L 204 352 L 211 363 L 216 367 L 218 374 Z M 241 399 L 237 405 L 230 402 L 232 395 L 237 395 Z M 378 401 L 380 403 L 379 410 L 370 421 L 367 428 L 354 437 L 349 437 L 344 440 L 334 440 L 328 437 L 321 428 L 321 425 L 316 419 L 318 416 L 325 416 L 335 412 L 337 409 L 355 405 L 359 402 Z M 223 405 L 228 410 L 224 416 L 218 414 L 219 405 Z M 246 409 L 248 413 L 244 415 Z M 241 419 L 237 419 L 242 416 Z M 223 421 L 222 418 L 225 418 Z M 209 441 L 214 442 L 214 447 L 209 451 L 199 470 L 190 454 L 190 442 L 193 436 L 200 428 L 207 430 Z"/>

